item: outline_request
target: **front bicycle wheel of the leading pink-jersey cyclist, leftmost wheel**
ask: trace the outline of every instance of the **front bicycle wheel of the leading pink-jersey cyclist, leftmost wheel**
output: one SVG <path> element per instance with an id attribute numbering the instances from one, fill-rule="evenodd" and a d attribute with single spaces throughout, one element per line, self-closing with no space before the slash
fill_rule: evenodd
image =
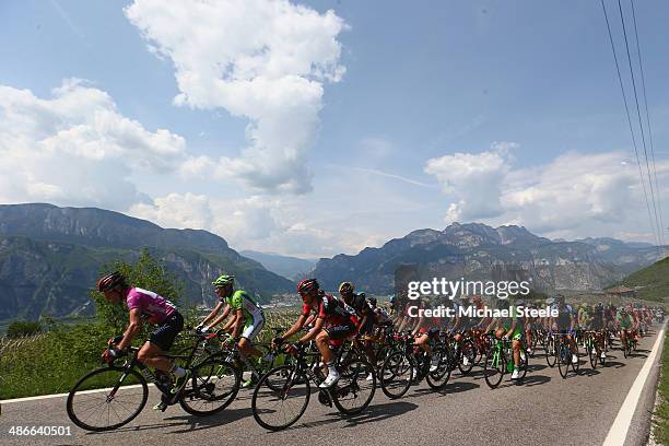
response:
<path id="1" fill-rule="evenodd" d="M 139 386 L 129 386 L 137 384 Z M 92 389 L 107 388 L 106 391 Z M 111 431 L 132 421 L 146 404 L 149 387 L 134 368 L 104 367 L 84 375 L 70 390 L 68 416 L 86 431 Z"/>

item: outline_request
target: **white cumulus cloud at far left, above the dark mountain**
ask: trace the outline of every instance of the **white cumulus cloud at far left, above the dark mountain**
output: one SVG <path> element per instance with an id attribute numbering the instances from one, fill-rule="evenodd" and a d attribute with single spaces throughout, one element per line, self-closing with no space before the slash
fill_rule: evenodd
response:
<path id="1" fill-rule="evenodd" d="M 166 173 L 186 160 L 184 139 L 146 130 L 111 97 L 67 80 L 40 98 L 0 85 L 0 200 L 125 210 L 145 197 L 134 176 Z"/>

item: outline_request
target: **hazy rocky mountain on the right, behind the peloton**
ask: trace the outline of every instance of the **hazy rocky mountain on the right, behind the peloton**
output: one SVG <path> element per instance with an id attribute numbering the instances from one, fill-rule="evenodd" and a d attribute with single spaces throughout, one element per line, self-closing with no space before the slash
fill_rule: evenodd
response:
<path id="1" fill-rule="evenodd" d="M 423 280 L 529 280 L 538 291 L 601 290 L 664 257 L 664 249 L 614 238 L 551 240 L 521 226 L 454 223 L 419 230 L 355 256 L 320 259 L 309 272 L 328 289 L 342 280 L 373 293 L 392 293 L 398 268 Z"/>

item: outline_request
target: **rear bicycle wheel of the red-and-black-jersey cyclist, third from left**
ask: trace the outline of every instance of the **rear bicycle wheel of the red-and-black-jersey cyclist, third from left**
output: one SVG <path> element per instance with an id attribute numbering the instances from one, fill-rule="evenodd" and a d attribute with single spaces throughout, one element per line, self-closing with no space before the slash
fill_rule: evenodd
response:
<path id="1" fill-rule="evenodd" d="M 341 376 L 331 390 L 332 402 L 341 413 L 354 415 L 372 402 L 376 391 L 376 372 L 369 362 L 361 359 L 354 359 L 340 368 Z"/>

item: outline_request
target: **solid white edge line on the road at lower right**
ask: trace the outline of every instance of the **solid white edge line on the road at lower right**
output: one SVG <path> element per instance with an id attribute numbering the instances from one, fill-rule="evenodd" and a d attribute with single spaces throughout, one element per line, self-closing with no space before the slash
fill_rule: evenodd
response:
<path id="1" fill-rule="evenodd" d="M 634 416 L 634 411 L 636 410 L 636 406 L 638 404 L 638 400 L 641 398 L 642 390 L 644 389 L 644 385 L 646 384 L 646 379 L 648 378 L 648 374 L 650 374 L 650 368 L 655 362 L 655 356 L 661 350 L 662 342 L 665 341 L 665 328 L 667 325 L 662 326 L 655 344 L 653 345 L 653 351 L 646 359 L 644 366 L 638 372 L 632 388 L 627 392 L 627 397 L 622 403 L 620 411 L 618 412 L 618 416 L 613 421 L 611 429 L 609 430 L 609 435 L 603 442 L 603 446 L 622 446 L 625 443 L 625 438 L 627 437 L 627 431 L 630 430 L 630 425 L 632 424 L 632 418 Z"/>

